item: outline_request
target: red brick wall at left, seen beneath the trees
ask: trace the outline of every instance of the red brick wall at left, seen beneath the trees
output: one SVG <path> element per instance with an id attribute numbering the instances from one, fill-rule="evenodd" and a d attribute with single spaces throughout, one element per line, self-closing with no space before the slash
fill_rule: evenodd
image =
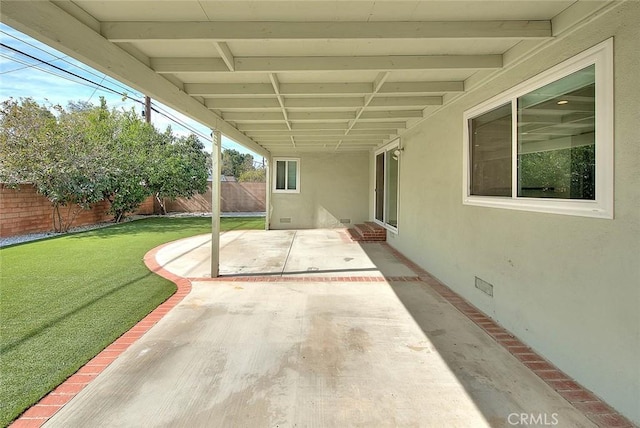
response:
<path id="1" fill-rule="evenodd" d="M 110 221 L 113 216 L 107 214 L 108 209 L 109 203 L 102 201 L 91 210 L 82 210 L 73 226 Z M 145 201 L 137 213 L 152 214 L 153 199 Z M 0 237 L 52 231 L 52 216 L 51 202 L 39 195 L 33 186 L 25 184 L 12 189 L 0 184 Z"/>

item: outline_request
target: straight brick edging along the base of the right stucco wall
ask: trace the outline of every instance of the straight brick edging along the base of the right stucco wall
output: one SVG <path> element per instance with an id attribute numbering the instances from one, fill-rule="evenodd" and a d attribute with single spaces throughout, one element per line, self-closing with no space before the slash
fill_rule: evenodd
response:
<path id="1" fill-rule="evenodd" d="M 414 271 L 422 282 L 430 286 L 442 298 L 484 330 L 591 422 L 601 428 L 633 428 L 636 426 L 400 251 L 386 242 L 380 244 Z"/>

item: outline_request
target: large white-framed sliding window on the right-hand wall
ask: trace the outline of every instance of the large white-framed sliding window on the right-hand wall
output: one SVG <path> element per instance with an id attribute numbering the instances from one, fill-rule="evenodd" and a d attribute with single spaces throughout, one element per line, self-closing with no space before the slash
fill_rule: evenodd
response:
<path id="1" fill-rule="evenodd" d="M 463 203 L 613 218 L 613 39 L 467 110 Z"/>

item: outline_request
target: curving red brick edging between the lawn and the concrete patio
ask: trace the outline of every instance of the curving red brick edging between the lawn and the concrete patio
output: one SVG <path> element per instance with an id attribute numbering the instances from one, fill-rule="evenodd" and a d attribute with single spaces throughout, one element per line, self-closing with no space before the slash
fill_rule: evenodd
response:
<path id="1" fill-rule="evenodd" d="M 80 367 L 67 380 L 28 408 L 10 425 L 10 428 L 41 427 L 189 294 L 191 282 L 187 278 L 179 277 L 167 271 L 156 260 L 158 251 L 174 242 L 168 242 L 152 249 L 144 255 L 143 260 L 151 272 L 172 281 L 176 284 L 178 290 L 98 355 L 89 360 L 88 363 Z"/>

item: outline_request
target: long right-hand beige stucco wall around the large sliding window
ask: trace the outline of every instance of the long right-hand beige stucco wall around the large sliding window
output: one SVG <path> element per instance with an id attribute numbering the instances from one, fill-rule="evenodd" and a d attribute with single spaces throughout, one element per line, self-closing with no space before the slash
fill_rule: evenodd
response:
<path id="1" fill-rule="evenodd" d="M 399 234 L 389 234 L 392 246 L 636 423 L 640 423 L 639 22 L 640 2 L 628 2 L 406 132 Z M 615 37 L 615 219 L 463 205 L 464 110 L 611 36 Z M 475 276 L 494 285 L 493 298 L 474 287 Z"/>

